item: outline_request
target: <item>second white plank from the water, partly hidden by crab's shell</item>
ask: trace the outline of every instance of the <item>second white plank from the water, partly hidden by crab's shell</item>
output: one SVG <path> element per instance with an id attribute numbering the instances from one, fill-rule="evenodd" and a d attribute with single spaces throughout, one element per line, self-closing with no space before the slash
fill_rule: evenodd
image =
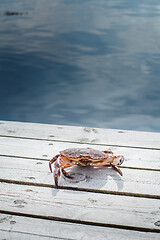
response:
<path id="1" fill-rule="evenodd" d="M 77 143 L 50 142 L 20 138 L 0 137 L 0 155 L 35 159 L 51 159 L 60 150 L 70 147 L 82 147 Z M 115 155 L 123 155 L 122 166 L 146 169 L 160 169 L 160 151 L 124 147 L 106 147 L 84 144 L 83 147 L 94 147 L 99 150 L 112 150 Z"/>

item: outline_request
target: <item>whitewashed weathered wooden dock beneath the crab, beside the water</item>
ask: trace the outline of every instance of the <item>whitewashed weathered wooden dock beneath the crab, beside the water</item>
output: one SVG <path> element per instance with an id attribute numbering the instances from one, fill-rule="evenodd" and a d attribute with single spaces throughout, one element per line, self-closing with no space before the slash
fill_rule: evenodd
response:
<path id="1" fill-rule="evenodd" d="M 123 177 L 74 166 L 56 189 L 70 147 L 124 155 Z M 160 239 L 160 133 L 1 121 L 0 239 Z"/>

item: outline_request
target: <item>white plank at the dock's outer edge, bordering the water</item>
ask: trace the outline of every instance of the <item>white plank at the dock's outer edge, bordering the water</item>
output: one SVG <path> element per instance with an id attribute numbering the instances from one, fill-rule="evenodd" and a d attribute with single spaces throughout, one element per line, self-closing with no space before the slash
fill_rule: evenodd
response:
<path id="1" fill-rule="evenodd" d="M 1 121 L 0 135 L 160 149 L 160 133 L 152 132 Z"/>

